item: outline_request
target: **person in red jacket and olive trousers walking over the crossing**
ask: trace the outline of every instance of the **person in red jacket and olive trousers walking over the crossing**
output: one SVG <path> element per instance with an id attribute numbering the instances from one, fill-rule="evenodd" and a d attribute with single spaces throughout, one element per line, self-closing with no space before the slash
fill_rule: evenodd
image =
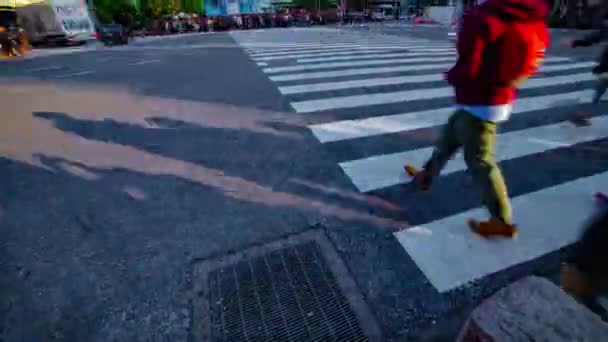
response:
<path id="1" fill-rule="evenodd" d="M 463 17 L 457 35 L 458 61 L 446 74 L 456 109 L 423 170 L 406 165 L 420 190 L 430 187 L 447 161 L 462 148 L 480 185 L 488 221 L 469 221 L 483 236 L 514 237 L 511 205 L 496 164 L 497 124 L 509 119 L 517 88 L 538 69 L 549 46 L 545 0 L 488 0 Z"/>

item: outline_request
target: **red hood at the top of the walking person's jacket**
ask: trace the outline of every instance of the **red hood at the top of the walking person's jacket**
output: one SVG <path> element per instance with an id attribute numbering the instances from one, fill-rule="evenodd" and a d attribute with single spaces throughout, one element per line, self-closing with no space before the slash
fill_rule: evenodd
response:
<path id="1" fill-rule="evenodd" d="M 487 0 L 479 6 L 504 20 L 544 21 L 549 13 L 547 0 Z"/>

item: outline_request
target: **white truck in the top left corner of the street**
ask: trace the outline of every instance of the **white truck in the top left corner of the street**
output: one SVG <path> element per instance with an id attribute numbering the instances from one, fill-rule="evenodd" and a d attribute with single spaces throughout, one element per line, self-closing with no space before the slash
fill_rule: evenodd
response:
<path id="1" fill-rule="evenodd" d="M 13 0 L 18 22 L 32 45 L 77 45 L 97 39 L 84 0 Z"/>

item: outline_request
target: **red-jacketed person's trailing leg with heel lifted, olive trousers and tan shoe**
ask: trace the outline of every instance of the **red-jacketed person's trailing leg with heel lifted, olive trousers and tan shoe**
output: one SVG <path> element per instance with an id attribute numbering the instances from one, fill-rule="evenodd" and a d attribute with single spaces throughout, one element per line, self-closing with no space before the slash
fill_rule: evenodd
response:
<path id="1" fill-rule="evenodd" d="M 414 176 L 414 183 L 421 189 L 426 190 L 431 186 L 434 177 L 438 176 L 445 164 L 451 159 L 461 146 L 456 134 L 455 127 L 459 120 L 468 113 L 458 110 L 450 116 L 448 122 L 443 126 L 441 135 L 431 157 L 424 164 L 421 172 L 418 172 L 413 166 L 406 165 L 405 171 Z"/>

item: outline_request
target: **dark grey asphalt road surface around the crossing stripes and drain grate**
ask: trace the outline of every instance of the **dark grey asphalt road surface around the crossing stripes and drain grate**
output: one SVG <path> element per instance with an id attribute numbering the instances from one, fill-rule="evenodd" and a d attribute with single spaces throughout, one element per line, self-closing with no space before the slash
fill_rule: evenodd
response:
<path id="1" fill-rule="evenodd" d="M 360 51 L 351 51 L 353 46 L 329 55 L 323 50 L 395 39 L 380 36 L 328 28 L 222 33 L 0 64 L 4 340 L 186 341 L 200 323 L 197 265 L 310 230 L 329 238 L 386 340 L 421 334 L 449 340 L 480 298 L 523 275 L 554 273 L 563 250 L 439 292 L 393 233 L 475 207 L 472 191 L 460 203 L 451 200 L 464 175 L 440 181 L 442 190 L 421 200 L 398 185 L 359 191 L 339 164 L 428 146 L 433 133 L 397 130 L 320 144 L 308 127 L 445 106 L 447 98 L 294 113 L 295 102 L 394 93 L 421 83 L 282 95 L 283 86 L 377 76 L 331 76 L 363 67 L 319 68 L 329 61 L 310 62 L 317 66 L 300 71 L 262 70 L 300 65 L 289 56 L 264 57 L 356 57 Z M 412 36 L 430 39 L 408 33 Z M 253 60 L 243 47 L 262 58 Z M 283 83 L 269 78 L 317 71 L 325 75 Z M 566 71 L 555 72 L 562 74 Z M 423 73 L 382 74 L 403 75 Z M 590 84 L 557 85 L 528 95 Z M 521 115 L 506 129 L 561 122 L 570 111 Z M 559 150 L 545 159 L 522 157 L 538 174 L 561 174 L 551 180 L 518 179 L 517 164 L 504 167 L 516 195 L 607 168 L 600 161 L 573 171 L 573 163 L 581 163 L 573 160 L 576 156 Z M 466 259 L 466 253 L 461 256 Z M 450 263 L 443 267 L 448 272 Z M 310 284 L 302 288 L 310 292 Z M 325 314 L 312 310 L 302 320 L 328 319 Z"/>

